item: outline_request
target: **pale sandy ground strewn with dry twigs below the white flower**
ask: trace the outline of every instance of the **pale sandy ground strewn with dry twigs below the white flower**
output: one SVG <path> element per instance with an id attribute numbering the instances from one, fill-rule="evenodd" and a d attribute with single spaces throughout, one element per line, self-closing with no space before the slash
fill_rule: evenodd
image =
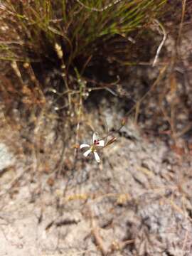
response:
<path id="1" fill-rule="evenodd" d="M 1 144 L 0 255 L 192 255 L 191 159 L 131 122 L 116 135 L 102 164 L 75 171 L 65 197 L 68 178 L 32 181 Z"/>

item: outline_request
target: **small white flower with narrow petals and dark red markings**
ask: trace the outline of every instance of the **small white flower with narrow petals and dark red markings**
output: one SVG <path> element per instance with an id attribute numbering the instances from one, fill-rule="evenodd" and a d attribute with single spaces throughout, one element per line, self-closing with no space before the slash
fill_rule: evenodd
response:
<path id="1" fill-rule="evenodd" d="M 105 146 L 105 142 L 103 139 L 98 139 L 96 132 L 92 134 L 92 144 L 81 144 L 80 149 L 83 149 L 85 147 L 88 147 L 89 149 L 85 151 L 83 156 L 87 157 L 90 153 L 93 153 L 95 156 L 95 160 L 97 163 L 100 163 L 100 156 L 97 154 L 97 148 L 99 146 Z"/>

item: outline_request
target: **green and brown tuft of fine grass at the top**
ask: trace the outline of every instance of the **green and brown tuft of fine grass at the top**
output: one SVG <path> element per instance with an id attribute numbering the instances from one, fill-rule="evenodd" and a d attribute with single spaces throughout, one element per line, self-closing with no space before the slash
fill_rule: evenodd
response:
<path id="1" fill-rule="evenodd" d="M 85 64 L 98 51 L 98 41 L 101 46 L 114 36 L 127 37 L 149 26 L 164 4 L 166 0 L 5 0 L 0 9 L 0 58 L 51 59 L 58 43 L 67 68 L 79 56 Z"/>

